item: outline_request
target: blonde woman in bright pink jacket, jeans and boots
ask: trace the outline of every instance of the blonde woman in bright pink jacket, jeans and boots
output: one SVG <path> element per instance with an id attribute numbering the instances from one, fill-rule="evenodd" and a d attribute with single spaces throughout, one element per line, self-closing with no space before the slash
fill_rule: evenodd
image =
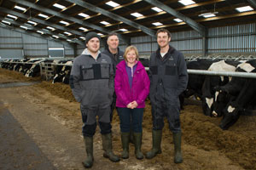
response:
<path id="1" fill-rule="evenodd" d="M 123 159 L 129 158 L 130 129 L 133 131 L 135 154 L 143 159 L 141 152 L 143 134 L 143 108 L 149 93 L 149 78 L 144 66 L 138 60 L 137 48 L 125 48 L 125 60 L 116 66 L 114 89 L 117 95 L 116 107 L 120 119 Z"/>

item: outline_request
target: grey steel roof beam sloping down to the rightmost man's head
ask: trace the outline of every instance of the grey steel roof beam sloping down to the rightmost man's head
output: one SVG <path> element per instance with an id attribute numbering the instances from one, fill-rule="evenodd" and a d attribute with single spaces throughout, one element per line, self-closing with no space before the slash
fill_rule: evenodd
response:
<path id="1" fill-rule="evenodd" d="M 108 16 L 109 18 L 111 18 L 113 20 L 119 20 L 119 21 L 121 21 L 121 22 L 123 22 L 123 23 L 125 23 L 129 26 L 135 27 L 138 30 L 141 30 L 141 31 L 145 32 L 146 34 L 148 34 L 151 37 L 155 37 L 155 31 L 154 30 L 151 30 L 146 26 L 137 24 L 137 22 L 128 20 L 128 19 L 126 19 L 122 16 L 119 16 L 118 14 L 113 14 L 113 13 L 108 12 L 107 10 L 105 10 L 103 8 L 96 7 L 95 5 L 92 5 L 90 3 L 86 3 L 86 2 L 81 1 L 81 0 L 66 0 L 66 1 L 70 2 L 70 3 L 76 3 L 81 7 L 88 8 L 89 10 L 91 10 L 93 12 L 97 12 L 97 13 L 103 14 L 105 16 Z"/>

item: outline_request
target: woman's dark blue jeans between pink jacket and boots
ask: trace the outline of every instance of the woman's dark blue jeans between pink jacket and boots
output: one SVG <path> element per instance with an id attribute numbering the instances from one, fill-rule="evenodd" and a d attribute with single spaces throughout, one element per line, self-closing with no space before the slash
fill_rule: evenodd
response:
<path id="1" fill-rule="evenodd" d="M 122 133 L 129 133 L 131 129 L 134 133 L 143 132 L 143 110 L 143 108 L 117 108 Z"/>

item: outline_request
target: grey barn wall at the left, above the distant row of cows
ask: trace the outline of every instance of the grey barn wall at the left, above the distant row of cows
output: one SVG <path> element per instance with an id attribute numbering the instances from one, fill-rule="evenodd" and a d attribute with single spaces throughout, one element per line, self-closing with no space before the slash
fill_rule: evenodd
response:
<path id="1" fill-rule="evenodd" d="M 64 48 L 65 57 L 73 57 L 73 48 L 61 42 L 34 37 L 0 26 L 0 56 L 4 58 L 41 58 L 49 57 L 48 48 Z"/>

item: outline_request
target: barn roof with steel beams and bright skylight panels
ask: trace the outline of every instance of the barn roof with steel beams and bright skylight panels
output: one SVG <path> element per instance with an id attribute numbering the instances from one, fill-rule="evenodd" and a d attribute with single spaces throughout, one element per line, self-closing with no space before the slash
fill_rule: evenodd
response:
<path id="1" fill-rule="evenodd" d="M 116 31 L 121 41 L 130 43 L 131 37 L 155 37 L 159 28 L 195 30 L 205 37 L 211 27 L 256 22 L 253 0 L 189 1 L 0 0 L 0 26 L 83 44 L 88 31 L 102 37 Z"/>

